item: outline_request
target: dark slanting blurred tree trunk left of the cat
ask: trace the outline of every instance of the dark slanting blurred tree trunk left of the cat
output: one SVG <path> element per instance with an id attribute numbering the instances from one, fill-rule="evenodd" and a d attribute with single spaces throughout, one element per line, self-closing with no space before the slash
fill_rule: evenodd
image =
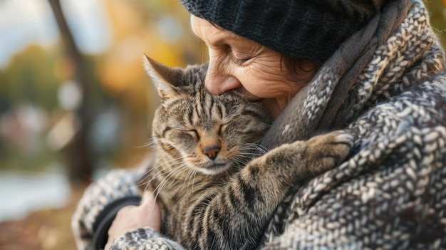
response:
<path id="1" fill-rule="evenodd" d="M 90 101 L 90 88 L 88 86 L 87 71 L 85 69 L 85 59 L 78 50 L 74 42 L 73 35 L 68 28 L 65 16 L 61 9 L 59 0 L 48 0 L 54 17 L 61 32 L 63 45 L 66 48 L 66 53 L 70 61 L 73 63 L 74 80 L 81 88 L 82 100 L 76 115 L 80 123 L 80 129 L 74 135 L 73 140 L 63 150 L 66 158 L 66 166 L 68 167 L 68 177 L 72 182 L 74 181 L 89 181 L 93 172 L 93 161 L 88 147 L 88 131 L 91 127 L 92 114 L 89 108 L 92 106 Z"/>

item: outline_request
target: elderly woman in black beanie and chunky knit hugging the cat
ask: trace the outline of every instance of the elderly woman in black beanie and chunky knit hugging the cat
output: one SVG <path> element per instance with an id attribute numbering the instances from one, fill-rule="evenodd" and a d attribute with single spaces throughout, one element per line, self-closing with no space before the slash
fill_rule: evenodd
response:
<path id="1" fill-rule="evenodd" d="M 338 129 L 356 138 L 346 162 L 282 202 L 259 248 L 446 247 L 445 61 L 421 1 L 182 4 L 209 47 L 208 90 L 237 89 L 274 116 L 264 147 Z M 107 234 L 110 249 L 182 248 L 157 232 L 153 198 L 138 206 L 134 176 L 110 172 L 85 191 L 79 249 Z"/>

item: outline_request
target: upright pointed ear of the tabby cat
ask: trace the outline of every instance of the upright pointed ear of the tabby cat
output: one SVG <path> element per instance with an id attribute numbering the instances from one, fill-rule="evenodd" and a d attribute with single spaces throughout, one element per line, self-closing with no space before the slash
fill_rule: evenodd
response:
<path id="1" fill-rule="evenodd" d="M 161 98 L 179 95 L 178 88 L 184 81 L 185 71 L 182 68 L 170 68 L 144 55 L 142 58 L 147 75 L 158 90 Z"/>

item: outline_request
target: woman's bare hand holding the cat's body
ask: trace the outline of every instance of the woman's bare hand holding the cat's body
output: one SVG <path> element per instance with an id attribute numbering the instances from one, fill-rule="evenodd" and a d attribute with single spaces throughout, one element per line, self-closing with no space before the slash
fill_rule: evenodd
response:
<path id="1" fill-rule="evenodd" d="M 126 232 L 145 226 L 150 226 L 157 231 L 160 231 L 161 226 L 160 206 L 150 192 L 145 192 L 142 195 L 142 202 L 139 206 L 127 206 L 119 210 L 108 229 L 108 241 L 105 244 L 105 249 L 109 249 L 113 241 Z"/>

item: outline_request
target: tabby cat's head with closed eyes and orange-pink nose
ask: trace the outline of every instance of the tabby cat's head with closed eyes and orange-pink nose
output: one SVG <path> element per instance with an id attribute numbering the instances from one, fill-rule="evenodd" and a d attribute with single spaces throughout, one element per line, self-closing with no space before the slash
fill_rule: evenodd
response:
<path id="1" fill-rule="evenodd" d="M 266 109 L 235 91 L 211 95 L 202 82 L 205 65 L 183 71 L 148 63 L 146 68 L 161 96 L 152 136 L 161 150 L 177 159 L 172 164 L 205 175 L 244 165 L 254 148 L 252 143 L 260 140 L 269 126 Z"/>

